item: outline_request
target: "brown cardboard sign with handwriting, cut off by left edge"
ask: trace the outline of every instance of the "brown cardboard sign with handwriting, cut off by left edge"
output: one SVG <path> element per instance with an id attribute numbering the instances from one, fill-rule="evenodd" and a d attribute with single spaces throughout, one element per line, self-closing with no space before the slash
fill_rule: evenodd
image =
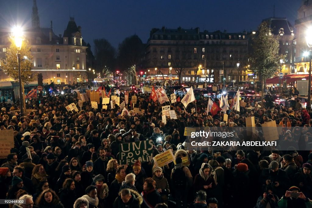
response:
<path id="1" fill-rule="evenodd" d="M 0 159 L 6 159 L 14 148 L 13 129 L 0 131 Z"/>

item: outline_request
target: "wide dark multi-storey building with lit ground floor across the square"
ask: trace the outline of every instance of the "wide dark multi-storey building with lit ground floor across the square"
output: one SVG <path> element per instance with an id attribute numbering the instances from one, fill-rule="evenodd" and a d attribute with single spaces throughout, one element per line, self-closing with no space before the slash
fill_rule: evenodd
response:
<path id="1" fill-rule="evenodd" d="M 247 49 L 246 32 L 154 28 L 146 45 L 147 80 L 166 81 L 171 74 L 181 82 L 248 81 Z"/>

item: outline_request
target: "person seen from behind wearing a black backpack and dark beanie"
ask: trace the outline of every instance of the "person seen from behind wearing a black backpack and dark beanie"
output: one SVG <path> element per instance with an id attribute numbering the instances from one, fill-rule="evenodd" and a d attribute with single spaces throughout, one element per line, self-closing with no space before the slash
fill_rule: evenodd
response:
<path id="1" fill-rule="evenodd" d="M 177 207 L 181 207 L 181 200 L 183 207 L 186 207 L 188 201 L 188 188 L 193 184 L 193 177 L 188 167 L 183 166 L 182 158 L 178 157 L 175 160 L 176 165 L 171 172 L 171 188 L 173 189 L 173 197 L 177 202 Z"/>

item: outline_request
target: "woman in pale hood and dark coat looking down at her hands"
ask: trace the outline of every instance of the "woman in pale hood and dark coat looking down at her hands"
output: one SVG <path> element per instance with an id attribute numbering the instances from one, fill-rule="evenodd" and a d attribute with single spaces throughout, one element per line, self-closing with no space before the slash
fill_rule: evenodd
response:
<path id="1" fill-rule="evenodd" d="M 203 190 L 206 191 L 207 196 L 214 196 L 212 190 L 214 190 L 217 185 L 211 172 L 212 167 L 207 163 L 202 163 L 199 173 L 195 176 L 193 183 L 195 192 Z"/>

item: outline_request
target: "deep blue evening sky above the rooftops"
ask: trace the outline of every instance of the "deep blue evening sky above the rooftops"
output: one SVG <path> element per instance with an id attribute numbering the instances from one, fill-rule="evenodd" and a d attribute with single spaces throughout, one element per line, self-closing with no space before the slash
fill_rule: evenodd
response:
<path id="1" fill-rule="evenodd" d="M 0 27 L 22 22 L 31 26 L 32 0 L 0 0 Z M 301 0 L 37 0 L 40 26 L 63 34 L 69 16 L 82 27 L 82 37 L 105 38 L 115 48 L 125 37 L 137 34 L 143 43 L 153 27 L 200 27 L 203 31 L 254 30 L 262 19 L 287 17 L 292 25 Z"/>

